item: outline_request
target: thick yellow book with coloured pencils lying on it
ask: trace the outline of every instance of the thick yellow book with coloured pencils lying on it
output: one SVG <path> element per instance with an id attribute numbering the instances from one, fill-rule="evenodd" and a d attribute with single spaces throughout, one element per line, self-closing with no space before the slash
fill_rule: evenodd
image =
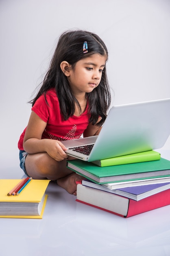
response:
<path id="1" fill-rule="evenodd" d="M 48 195 L 50 180 L 31 180 L 19 195 L 7 194 L 21 180 L 0 180 L 0 218 L 41 219 Z"/>

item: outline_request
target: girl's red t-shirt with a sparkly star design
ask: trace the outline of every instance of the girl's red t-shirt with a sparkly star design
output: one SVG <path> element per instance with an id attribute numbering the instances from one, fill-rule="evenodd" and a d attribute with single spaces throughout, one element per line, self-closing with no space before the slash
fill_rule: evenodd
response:
<path id="1" fill-rule="evenodd" d="M 46 100 L 48 104 L 46 103 Z M 47 123 L 46 129 L 42 134 L 42 139 L 57 139 L 63 141 L 66 139 L 79 139 L 89 124 L 88 104 L 82 115 L 72 116 L 64 120 L 60 112 L 59 99 L 54 88 L 41 95 L 31 110 L 33 110 L 43 121 Z M 23 139 L 25 130 L 18 141 L 18 148 L 23 149 Z"/>

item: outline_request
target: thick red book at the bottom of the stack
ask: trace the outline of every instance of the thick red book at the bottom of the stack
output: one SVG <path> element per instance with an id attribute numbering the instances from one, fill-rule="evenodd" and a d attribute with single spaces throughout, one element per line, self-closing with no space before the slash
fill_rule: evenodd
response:
<path id="1" fill-rule="evenodd" d="M 170 189 L 140 201 L 115 195 L 77 182 L 76 201 L 128 218 L 170 204 Z"/>

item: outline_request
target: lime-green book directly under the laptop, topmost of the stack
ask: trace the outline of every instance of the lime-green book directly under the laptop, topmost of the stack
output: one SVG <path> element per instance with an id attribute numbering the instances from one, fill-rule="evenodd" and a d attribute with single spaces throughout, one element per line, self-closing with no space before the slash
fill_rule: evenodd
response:
<path id="1" fill-rule="evenodd" d="M 149 150 L 145 152 L 130 154 L 130 155 L 122 155 L 120 157 L 111 157 L 107 159 L 97 160 L 92 163 L 104 167 L 104 166 L 111 166 L 111 165 L 119 165 L 119 164 L 132 164 L 132 163 L 139 163 L 139 162 L 148 162 L 148 161 L 155 161 L 161 158 L 160 153 Z"/>

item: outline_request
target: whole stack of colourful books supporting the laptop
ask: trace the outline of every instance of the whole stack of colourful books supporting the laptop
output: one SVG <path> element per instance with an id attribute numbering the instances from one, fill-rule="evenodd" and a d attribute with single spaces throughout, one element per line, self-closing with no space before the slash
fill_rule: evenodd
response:
<path id="1" fill-rule="evenodd" d="M 70 160 L 67 167 L 85 177 L 76 201 L 124 218 L 170 204 L 170 161 L 154 150 L 93 163 Z"/>

